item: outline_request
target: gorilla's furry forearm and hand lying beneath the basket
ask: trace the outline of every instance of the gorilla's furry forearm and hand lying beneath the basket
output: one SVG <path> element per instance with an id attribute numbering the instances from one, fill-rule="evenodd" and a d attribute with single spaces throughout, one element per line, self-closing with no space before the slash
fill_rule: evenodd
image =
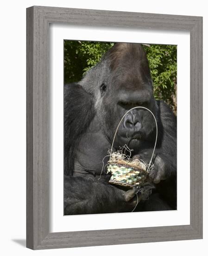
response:
<path id="1" fill-rule="evenodd" d="M 123 191 L 106 182 L 64 177 L 64 215 L 132 211 L 138 189 Z M 133 198 L 134 197 L 134 198 Z"/>

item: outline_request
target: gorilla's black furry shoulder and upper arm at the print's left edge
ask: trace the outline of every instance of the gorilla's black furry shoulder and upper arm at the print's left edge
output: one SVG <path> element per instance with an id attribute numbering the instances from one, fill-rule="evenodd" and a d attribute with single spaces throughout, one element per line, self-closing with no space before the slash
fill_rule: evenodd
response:
<path id="1" fill-rule="evenodd" d="M 94 118 L 92 97 L 78 84 L 64 86 L 64 173 L 72 175 L 76 146 Z"/>

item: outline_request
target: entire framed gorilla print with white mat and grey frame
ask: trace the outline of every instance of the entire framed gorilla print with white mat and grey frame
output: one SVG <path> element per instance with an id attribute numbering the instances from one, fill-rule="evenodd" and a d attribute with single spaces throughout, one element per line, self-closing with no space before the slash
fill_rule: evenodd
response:
<path id="1" fill-rule="evenodd" d="M 202 17 L 27 9 L 27 247 L 202 238 Z"/>

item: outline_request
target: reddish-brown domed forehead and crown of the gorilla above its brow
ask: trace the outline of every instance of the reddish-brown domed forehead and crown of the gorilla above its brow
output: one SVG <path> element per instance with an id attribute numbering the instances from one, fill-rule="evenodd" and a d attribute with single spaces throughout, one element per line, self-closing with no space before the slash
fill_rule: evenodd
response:
<path id="1" fill-rule="evenodd" d="M 116 89 L 152 89 L 149 63 L 140 44 L 115 44 L 104 56 L 111 75 L 104 78 Z"/>

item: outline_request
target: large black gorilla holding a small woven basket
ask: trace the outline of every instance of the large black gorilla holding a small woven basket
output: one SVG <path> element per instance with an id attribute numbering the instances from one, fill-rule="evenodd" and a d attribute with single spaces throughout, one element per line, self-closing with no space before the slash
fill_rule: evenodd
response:
<path id="1" fill-rule="evenodd" d="M 154 169 L 139 193 L 111 185 L 106 169 L 101 172 L 122 116 L 136 106 L 150 109 L 158 124 Z M 123 119 L 113 151 L 126 144 L 133 159 L 149 164 L 155 136 L 151 113 L 134 109 Z M 64 85 L 64 215 L 133 209 L 176 209 L 176 116 L 153 96 L 143 47 L 116 43 L 81 81 Z"/>

